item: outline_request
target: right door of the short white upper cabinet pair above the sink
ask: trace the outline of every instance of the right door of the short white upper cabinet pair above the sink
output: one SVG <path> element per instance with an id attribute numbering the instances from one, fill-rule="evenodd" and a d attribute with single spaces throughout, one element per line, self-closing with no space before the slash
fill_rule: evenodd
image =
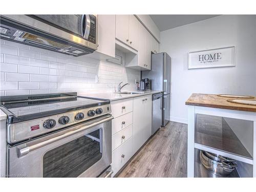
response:
<path id="1" fill-rule="evenodd" d="M 139 21 L 134 15 L 129 15 L 129 45 L 138 50 Z"/>

